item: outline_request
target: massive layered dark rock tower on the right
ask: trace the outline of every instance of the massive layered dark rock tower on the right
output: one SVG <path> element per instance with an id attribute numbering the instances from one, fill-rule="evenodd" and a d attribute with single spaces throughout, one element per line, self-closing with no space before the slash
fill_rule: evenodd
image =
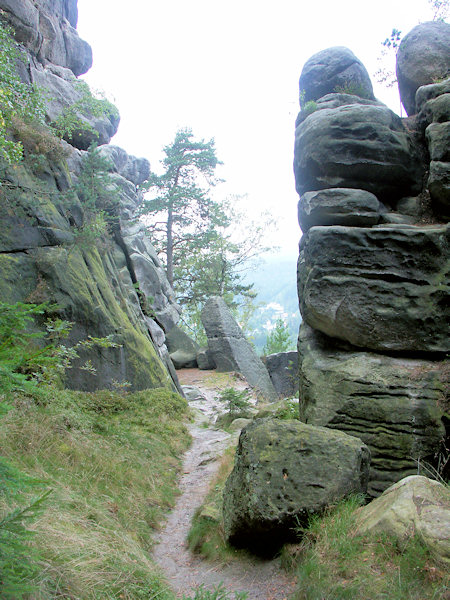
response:
<path id="1" fill-rule="evenodd" d="M 416 118 L 330 94 L 323 75 L 326 95 L 296 121 L 300 419 L 369 446 L 373 496 L 416 461 L 446 460 L 450 80 L 418 86 L 450 46 L 422 54 L 410 41 L 448 28 L 420 26 L 399 52 L 399 73 L 417 71 Z"/>

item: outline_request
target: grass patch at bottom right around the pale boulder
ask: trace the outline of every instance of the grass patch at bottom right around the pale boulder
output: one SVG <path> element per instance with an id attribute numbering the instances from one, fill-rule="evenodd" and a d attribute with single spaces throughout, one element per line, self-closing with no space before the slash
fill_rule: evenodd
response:
<path id="1" fill-rule="evenodd" d="M 302 530 L 297 546 L 285 547 L 285 565 L 298 578 L 293 600 L 426 600 L 449 593 L 449 578 L 421 541 L 400 546 L 388 536 L 361 536 L 358 497 L 339 503 Z"/>

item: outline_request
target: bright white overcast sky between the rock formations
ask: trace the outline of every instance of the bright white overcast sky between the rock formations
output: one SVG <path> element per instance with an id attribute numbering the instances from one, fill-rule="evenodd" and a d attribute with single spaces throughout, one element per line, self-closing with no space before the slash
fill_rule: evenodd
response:
<path id="1" fill-rule="evenodd" d="M 375 95 L 381 42 L 432 17 L 427 0 L 78 0 L 80 36 L 93 49 L 84 76 L 115 102 L 112 143 L 145 156 L 155 171 L 178 128 L 215 138 L 226 180 L 217 193 L 248 194 L 252 218 L 279 221 L 269 241 L 296 254 L 301 232 L 292 172 L 298 78 L 314 53 L 347 46 Z"/>

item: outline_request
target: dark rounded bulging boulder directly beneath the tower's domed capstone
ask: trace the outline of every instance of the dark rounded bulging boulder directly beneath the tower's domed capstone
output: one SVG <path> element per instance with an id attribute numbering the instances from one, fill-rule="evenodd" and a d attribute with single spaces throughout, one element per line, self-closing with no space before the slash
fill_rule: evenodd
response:
<path id="1" fill-rule="evenodd" d="M 424 166 L 400 117 L 378 102 L 349 103 L 345 95 L 336 96 L 335 103 L 332 96 L 324 98 L 327 102 L 318 103 L 315 112 L 298 120 L 297 192 L 356 188 L 388 203 L 419 193 Z"/>

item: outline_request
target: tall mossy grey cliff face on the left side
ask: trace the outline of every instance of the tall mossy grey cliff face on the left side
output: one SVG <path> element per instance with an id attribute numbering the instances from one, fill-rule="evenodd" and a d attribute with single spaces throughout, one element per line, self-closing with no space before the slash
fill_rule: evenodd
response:
<path id="1" fill-rule="evenodd" d="M 26 69 L 18 65 L 23 80 L 49 92 L 48 121 L 64 107 L 78 106 L 87 88 L 75 76 L 90 67 L 92 57 L 75 30 L 76 0 L 0 0 L 0 9 L 23 47 Z M 165 345 L 179 308 L 143 226 L 131 223 L 142 201 L 137 186 L 148 177 L 149 163 L 117 147 L 99 149 L 110 160 L 103 193 L 114 200 L 111 232 L 107 239 L 86 241 L 89 210 L 77 181 L 87 153 L 76 146 L 109 141 L 118 115 L 85 118 L 89 139 L 58 142 L 43 128 L 19 136 L 25 148 L 20 165 L 2 165 L 0 299 L 56 303 L 57 316 L 73 323 L 69 345 L 88 336 L 110 336 L 117 344 L 81 350 L 69 387 L 93 390 L 129 382 L 132 389 L 181 391 Z M 86 360 L 95 376 L 79 368 Z"/>

